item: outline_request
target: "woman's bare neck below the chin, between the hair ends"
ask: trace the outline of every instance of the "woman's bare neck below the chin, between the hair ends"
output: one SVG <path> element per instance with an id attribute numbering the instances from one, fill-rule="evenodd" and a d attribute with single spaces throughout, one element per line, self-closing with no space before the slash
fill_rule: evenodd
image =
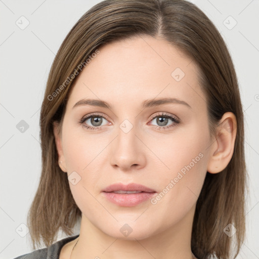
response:
<path id="1" fill-rule="evenodd" d="M 144 238 L 135 238 L 132 232 L 127 238 L 112 237 L 91 223 L 82 214 L 80 235 L 71 258 L 135 258 L 193 259 L 191 230 L 195 206 L 183 219 L 157 233 Z M 118 229 L 123 224 L 118 224 Z M 158 224 L 159 225 L 159 224 Z"/>

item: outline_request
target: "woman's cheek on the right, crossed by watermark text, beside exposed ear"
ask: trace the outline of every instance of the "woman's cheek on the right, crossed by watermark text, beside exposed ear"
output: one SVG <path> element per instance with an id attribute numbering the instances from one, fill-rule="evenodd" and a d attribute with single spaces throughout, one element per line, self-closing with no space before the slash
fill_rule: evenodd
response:
<path id="1" fill-rule="evenodd" d="M 157 187 L 161 193 L 155 203 L 175 210 L 175 206 L 190 209 L 196 202 L 206 176 L 207 147 L 209 135 L 205 130 L 192 125 L 189 133 L 164 138 L 152 147 L 156 150 L 160 162 Z M 162 165 L 161 165 L 162 164 Z M 161 170 L 161 168 L 163 168 Z M 187 205 L 189 204 L 189 205 Z"/>

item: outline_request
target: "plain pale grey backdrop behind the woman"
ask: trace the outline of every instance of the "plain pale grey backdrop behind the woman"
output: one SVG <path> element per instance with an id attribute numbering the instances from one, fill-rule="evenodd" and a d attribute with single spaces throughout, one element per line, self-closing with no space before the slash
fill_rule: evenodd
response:
<path id="1" fill-rule="evenodd" d="M 32 251 L 24 224 L 40 177 L 39 111 L 48 74 L 71 27 L 99 2 L 0 0 L 0 258 Z M 221 32 L 237 72 L 249 175 L 247 236 L 237 258 L 259 258 L 259 1 L 191 2 Z"/>

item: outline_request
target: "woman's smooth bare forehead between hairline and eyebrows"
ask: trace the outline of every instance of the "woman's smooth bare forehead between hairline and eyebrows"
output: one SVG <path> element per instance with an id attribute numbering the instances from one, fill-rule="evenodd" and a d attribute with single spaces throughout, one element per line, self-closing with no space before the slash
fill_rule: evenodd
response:
<path id="1" fill-rule="evenodd" d="M 137 105 L 146 99 L 172 97 L 191 106 L 201 106 L 203 100 L 205 107 L 198 67 L 169 42 L 138 36 L 98 50 L 100 53 L 77 75 L 68 109 L 82 98 Z"/>

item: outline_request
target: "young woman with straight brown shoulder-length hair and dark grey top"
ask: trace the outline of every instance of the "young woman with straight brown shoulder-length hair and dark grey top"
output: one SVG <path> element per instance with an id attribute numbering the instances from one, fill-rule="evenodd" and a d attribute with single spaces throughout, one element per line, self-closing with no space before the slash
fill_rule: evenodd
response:
<path id="1" fill-rule="evenodd" d="M 55 57 L 40 131 L 28 226 L 33 249 L 47 248 L 17 258 L 237 256 L 242 104 L 224 40 L 195 5 L 91 8 Z M 79 234 L 56 242 L 77 222 Z"/>

